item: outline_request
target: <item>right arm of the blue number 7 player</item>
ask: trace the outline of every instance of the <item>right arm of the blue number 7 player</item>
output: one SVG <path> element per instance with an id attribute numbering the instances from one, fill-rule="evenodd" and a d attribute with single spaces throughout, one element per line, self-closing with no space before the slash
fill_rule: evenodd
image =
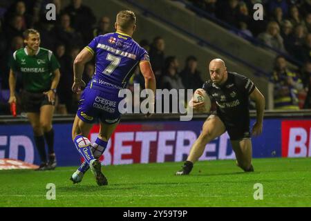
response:
<path id="1" fill-rule="evenodd" d="M 146 89 L 150 89 L 153 91 L 153 97 L 151 97 L 151 102 L 155 102 L 156 95 L 156 77 L 154 76 L 153 70 L 151 68 L 151 64 L 149 61 L 141 61 L 140 62 L 140 71 L 144 76 L 144 86 Z M 149 113 L 147 117 L 151 114 Z"/>

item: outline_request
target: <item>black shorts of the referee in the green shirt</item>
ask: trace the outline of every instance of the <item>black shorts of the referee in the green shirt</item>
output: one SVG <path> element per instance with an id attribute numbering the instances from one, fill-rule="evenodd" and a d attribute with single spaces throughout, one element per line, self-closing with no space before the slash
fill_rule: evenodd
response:
<path id="1" fill-rule="evenodd" d="M 48 96 L 44 93 L 30 93 L 23 90 L 21 93 L 21 102 L 23 104 L 23 111 L 39 113 L 41 106 L 53 105 L 52 102 L 48 101 Z"/>

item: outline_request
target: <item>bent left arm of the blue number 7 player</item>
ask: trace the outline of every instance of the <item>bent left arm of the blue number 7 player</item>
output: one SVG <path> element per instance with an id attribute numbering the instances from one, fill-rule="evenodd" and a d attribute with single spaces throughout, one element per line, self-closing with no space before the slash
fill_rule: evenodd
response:
<path id="1" fill-rule="evenodd" d="M 93 58 L 93 53 L 87 48 L 83 48 L 79 55 L 75 57 L 75 61 L 73 61 L 73 92 L 81 93 L 82 87 L 85 86 L 84 81 L 82 81 L 82 74 L 84 70 L 84 66 L 88 61 L 91 61 Z"/>

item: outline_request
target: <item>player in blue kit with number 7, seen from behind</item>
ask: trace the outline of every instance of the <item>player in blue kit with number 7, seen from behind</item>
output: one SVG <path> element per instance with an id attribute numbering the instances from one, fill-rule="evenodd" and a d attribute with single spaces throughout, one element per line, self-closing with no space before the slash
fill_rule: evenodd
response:
<path id="1" fill-rule="evenodd" d="M 101 171 L 97 160 L 107 146 L 111 134 L 120 121 L 118 104 L 119 91 L 126 88 L 135 68 L 140 67 L 144 76 L 145 88 L 156 92 L 156 79 L 151 68 L 149 55 L 133 39 L 136 18 L 134 12 L 120 11 L 117 14 L 116 32 L 95 37 L 75 58 L 73 64 L 73 92 L 81 93 L 85 86 L 82 73 L 85 64 L 95 57 L 95 73 L 81 95 L 80 104 L 73 123 L 72 138 L 84 162 L 71 175 L 73 183 L 81 182 L 84 173 L 91 167 L 98 185 L 107 185 L 108 181 Z M 149 115 L 149 114 L 147 114 Z M 91 145 L 87 136 L 93 123 L 100 120 L 100 133 Z M 96 153 L 96 154 L 95 154 Z"/>

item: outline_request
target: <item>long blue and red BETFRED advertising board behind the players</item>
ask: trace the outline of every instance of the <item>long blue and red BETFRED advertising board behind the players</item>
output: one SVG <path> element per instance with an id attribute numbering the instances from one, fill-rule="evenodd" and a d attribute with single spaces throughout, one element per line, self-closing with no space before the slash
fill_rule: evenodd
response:
<path id="1" fill-rule="evenodd" d="M 310 119 L 265 119 L 263 133 L 252 137 L 253 157 L 310 156 L 310 122 Z M 184 161 L 200 135 L 203 123 L 203 120 L 120 123 L 100 160 L 106 165 Z M 71 140 L 72 124 L 54 124 L 53 127 L 57 164 L 77 166 L 80 156 Z M 91 129 L 88 137 L 91 142 L 95 142 L 99 129 L 96 124 Z M 40 164 L 29 124 L 0 125 L 2 158 Z M 205 146 L 200 160 L 234 158 L 229 136 L 225 133 Z"/>

